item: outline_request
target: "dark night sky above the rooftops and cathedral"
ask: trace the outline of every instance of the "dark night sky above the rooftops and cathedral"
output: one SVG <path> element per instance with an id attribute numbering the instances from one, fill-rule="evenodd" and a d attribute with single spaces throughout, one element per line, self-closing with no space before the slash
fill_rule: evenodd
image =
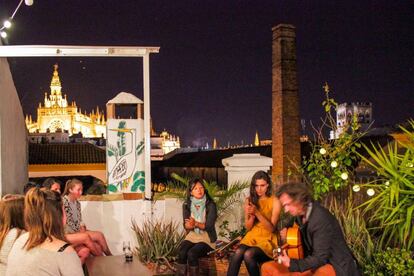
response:
<path id="1" fill-rule="evenodd" d="M 18 0 L 0 0 L 0 19 Z M 341 2 L 341 3 L 339 3 Z M 338 102 L 372 102 L 375 126 L 413 117 L 413 1 L 34 0 L 9 45 L 159 46 L 151 55 L 154 127 L 184 146 L 271 136 L 272 26 L 296 26 L 300 113 L 323 115 L 322 85 Z M 88 112 L 118 92 L 142 99 L 134 58 L 9 59 L 23 110 L 35 116 L 59 64 L 63 93 Z M 309 127 L 309 126 L 308 126 Z"/>

